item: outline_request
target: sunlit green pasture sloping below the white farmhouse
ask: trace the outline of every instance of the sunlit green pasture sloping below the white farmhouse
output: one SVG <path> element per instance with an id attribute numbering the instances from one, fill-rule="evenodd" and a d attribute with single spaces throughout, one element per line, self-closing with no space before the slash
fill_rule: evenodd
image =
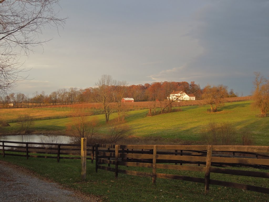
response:
<path id="1" fill-rule="evenodd" d="M 249 131 L 254 138 L 256 145 L 269 145 L 269 118 L 256 118 L 259 110 L 253 109 L 251 101 L 225 103 L 219 107 L 220 112 L 207 113 L 209 106 L 186 106 L 181 107 L 182 112 L 161 114 L 153 117 L 146 117 L 148 110 L 137 110 L 126 113 L 125 125 L 132 129 L 131 137 L 161 137 L 168 142 L 171 139 L 198 142 L 201 141 L 200 131 L 214 121 L 216 123 L 228 122 L 236 127 L 238 131 Z M 100 128 L 100 135 L 108 133 L 108 126 L 105 124 L 104 115 L 90 116 L 88 120 L 97 119 Z M 116 114 L 110 115 L 110 120 L 116 118 Z M 31 130 L 35 132 L 65 133 L 67 126 L 72 124 L 76 118 L 54 119 L 33 121 Z M 2 127 L 1 132 L 16 133 L 20 129 L 19 123 L 10 124 L 11 127 Z M 195 144 L 195 143 L 194 143 Z"/>

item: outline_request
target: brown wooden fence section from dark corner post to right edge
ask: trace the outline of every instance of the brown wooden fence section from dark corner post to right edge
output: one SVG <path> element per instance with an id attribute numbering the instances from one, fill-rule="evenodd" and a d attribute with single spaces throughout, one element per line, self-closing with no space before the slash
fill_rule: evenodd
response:
<path id="1" fill-rule="evenodd" d="M 209 184 L 214 184 L 269 194 L 269 188 L 266 187 L 210 179 L 210 173 L 269 178 L 268 172 L 213 167 L 264 166 L 268 169 L 269 156 L 265 155 L 268 152 L 268 146 L 97 145 L 95 163 L 96 172 L 98 169 L 112 171 L 115 172 L 116 178 L 118 173 L 124 173 L 152 177 L 153 183 L 156 182 L 156 178 L 204 183 L 205 193 L 209 190 Z M 119 165 L 146 167 L 152 170 L 151 172 L 123 170 L 118 168 Z M 204 172 L 204 178 L 158 173 L 157 169 Z"/>

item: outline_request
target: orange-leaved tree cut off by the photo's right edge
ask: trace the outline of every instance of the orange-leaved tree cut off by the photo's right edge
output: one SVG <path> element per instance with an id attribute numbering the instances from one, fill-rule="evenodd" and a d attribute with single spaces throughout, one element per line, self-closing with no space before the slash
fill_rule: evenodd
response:
<path id="1" fill-rule="evenodd" d="M 253 106 L 260 109 L 261 114 L 266 114 L 269 111 L 269 80 L 261 76 L 260 72 L 254 74 Z"/>

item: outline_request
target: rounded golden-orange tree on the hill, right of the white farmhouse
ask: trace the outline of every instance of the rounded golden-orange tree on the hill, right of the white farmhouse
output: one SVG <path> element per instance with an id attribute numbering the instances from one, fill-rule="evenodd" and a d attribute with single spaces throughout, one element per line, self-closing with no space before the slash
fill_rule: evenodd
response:
<path id="1" fill-rule="evenodd" d="M 227 88 L 228 87 L 224 85 L 207 85 L 204 87 L 202 99 L 210 105 L 211 109 L 217 109 L 217 107 L 223 103 L 224 97 L 227 97 L 228 95 Z"/>

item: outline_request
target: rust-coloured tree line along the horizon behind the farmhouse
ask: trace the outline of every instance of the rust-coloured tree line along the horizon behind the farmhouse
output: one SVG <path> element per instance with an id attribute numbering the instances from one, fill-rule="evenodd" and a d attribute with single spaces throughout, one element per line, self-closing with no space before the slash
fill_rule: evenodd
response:
<path id="1" fill-rule="evenodd" d="M 158 101 L 165 100 L 169 97 L 170 93 L 175 91 L 183 91 L 187 94 L 193 94 L 196 99 L 202 99 L 205 88 L 200 88 L 199 84 L 194 81 L 188 83 L 182 82 L 153 82 L 151 84 L 145 83 L 144 85 L 128 85 L 126 81 L 115 81 L 111 79 L 108 83 L 109 102 L 117 102 L 118 98 L 132 97 L 135 102 L 139 101 Z M 227 91 L 228 87 L 225 87 L 225 97 L 236 97 L 237 95 L 231 89 Z M 34 92 L 32 96 L 25 95 L 23 93 L 9 93 L 0 97 L 0 102 L 3 106 L 12 104 L 13 106 L 22 107 L 27 106 L 42 106 L 42 105 L 65 105 L 76 103 L 88 103 L 96 101 L 96 91 L 100 86 L 89 87 L 85 89 L 79 89 L 76 87 L 70 87 L 69 89 L 61 88 L 53 91 L 49 95 L 44 91 Z M 123 90 L 124 89 L 124 90 Z"/>

